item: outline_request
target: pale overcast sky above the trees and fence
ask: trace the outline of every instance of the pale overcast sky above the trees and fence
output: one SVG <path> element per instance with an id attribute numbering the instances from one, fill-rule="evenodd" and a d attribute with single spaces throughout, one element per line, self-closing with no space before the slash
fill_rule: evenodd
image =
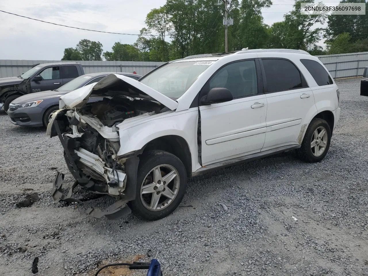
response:
<path id="1" fill-rule="evenodd" d="M 57 24 L 107 32 L 135 33 L 146 14 L 166 0 L 0 0 L 0 10 Z M 263 10 L 265 23 L 282 21 L 294 1 L 273 1 Z M 60 60 L 65 48 L 81 39 L 99 41 L 110 51 L 116 41 L 132 44 L 137 36 L 97 33 L 51 25 L 0 12 L 0 59 Z"/>

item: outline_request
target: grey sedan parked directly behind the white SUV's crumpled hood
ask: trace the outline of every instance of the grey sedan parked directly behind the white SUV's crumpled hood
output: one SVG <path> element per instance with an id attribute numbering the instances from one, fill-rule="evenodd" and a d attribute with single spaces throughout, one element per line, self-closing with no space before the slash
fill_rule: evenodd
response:
<path id="1" fill-rule="evenodd" d="M 53 91 L 43 91 L 21 96 L 10 103 L 8 115 L 15 125 L 47 126 L 52 113 L 59 109 L 59 97 L 82 86 L 98 82 L 109 74 L 125 75 L 134 79 L 142 76 L 124 72 L 102 72 L 82 75 Z M 90 101 L 99 100 L 91 98 Z"/>

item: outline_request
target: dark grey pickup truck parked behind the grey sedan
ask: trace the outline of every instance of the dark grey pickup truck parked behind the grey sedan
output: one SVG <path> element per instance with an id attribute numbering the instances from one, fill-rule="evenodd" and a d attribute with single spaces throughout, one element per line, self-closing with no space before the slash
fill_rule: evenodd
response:
<path id="1" fill-rule="evenodd" d="M 7 112 L 16 98 L 46 90 L 54 90 L 72 79 L 84 75 L 82 64 L 76 62 L 36 64 L 18 77 L 0 78 L 0 110 Z"/>

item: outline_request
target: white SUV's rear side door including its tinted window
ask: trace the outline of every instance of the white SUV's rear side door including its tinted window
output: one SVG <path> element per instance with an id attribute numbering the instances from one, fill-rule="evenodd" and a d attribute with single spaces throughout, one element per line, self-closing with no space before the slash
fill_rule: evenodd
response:
<path id="1" fill-rule="evenodd" d="M 262 151 L 297 144 L 301 127 L 306 124 L 306 114 L 316 109 L 311 88 L 290 60 L 261 60 L 267 99 L 267 128 Z"/>

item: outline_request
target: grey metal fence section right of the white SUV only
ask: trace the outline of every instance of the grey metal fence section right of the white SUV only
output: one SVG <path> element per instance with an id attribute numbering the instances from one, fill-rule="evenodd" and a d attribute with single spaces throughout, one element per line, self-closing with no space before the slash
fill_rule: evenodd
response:
<path id="1" fill-rule="evenodd" d="M 317 56 L 333 78 L 358 77 L 368 67 L 368 52 Z"/>

